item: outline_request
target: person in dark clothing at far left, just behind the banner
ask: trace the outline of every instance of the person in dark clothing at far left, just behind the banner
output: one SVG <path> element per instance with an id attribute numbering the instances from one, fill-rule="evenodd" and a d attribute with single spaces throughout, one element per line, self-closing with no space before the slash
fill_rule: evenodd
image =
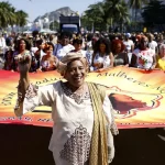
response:
<path id="1" fill-rule="evenodd" d="M 13 50 L 9 48 L 4 54 L 4 70 L 13 70 Z"/>

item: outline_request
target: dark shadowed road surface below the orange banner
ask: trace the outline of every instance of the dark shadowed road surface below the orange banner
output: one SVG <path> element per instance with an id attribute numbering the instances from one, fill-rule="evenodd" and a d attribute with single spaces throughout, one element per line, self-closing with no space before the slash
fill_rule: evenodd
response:
<path id="1" fill-rule="evenodd" d="M 48 143 L 52 128 L 0 124 L 1 165 L 54 165 Z M 165 165 L 163 129 L 120 130 L 110 165 Z"/>

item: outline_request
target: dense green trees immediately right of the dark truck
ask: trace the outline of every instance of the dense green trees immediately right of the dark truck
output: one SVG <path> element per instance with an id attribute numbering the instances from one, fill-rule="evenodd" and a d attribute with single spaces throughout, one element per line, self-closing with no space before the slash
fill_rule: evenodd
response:
<path id="1" fill-rule="evenodd" d="M 91 30 L 108 31 L 113 24 L 128 24 L 129 9 L 123 0 L 105 0 L 90 4 L 81 16 L 81 25 Z"/>

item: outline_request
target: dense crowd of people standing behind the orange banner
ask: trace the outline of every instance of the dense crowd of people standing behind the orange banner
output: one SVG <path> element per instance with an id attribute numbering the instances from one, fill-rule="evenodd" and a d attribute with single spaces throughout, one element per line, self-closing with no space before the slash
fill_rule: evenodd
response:
<path id="1" fill-rule="evenodd" d="M 19 72 L 19 54 L 30 54 L 30 72 L 55 70 L 56 61 L 69 52 L 80 52 L 88 59 L 89 70 L 124 65 L 142 69 L 165 70 L 164 33 L 88 33 L 70 34 L 0 34 L 3 69 Z"/>

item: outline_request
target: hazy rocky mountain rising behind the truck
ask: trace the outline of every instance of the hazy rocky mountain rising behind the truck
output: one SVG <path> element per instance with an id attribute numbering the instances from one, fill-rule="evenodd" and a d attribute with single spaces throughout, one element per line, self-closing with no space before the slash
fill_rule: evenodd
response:
<path id="1" fill-rule="evenodd" d="M 37 16 L 34 22 L 37 22 L 40 19 L 45 19 L 45 18 L 48 18 L 50 22 L 51 21 L 57 21 L 59 22 L 59 16 L 61 15 L 72 15 L 72 14 L 76 14 L 75 11 L 73 11 L 69 7 L 64 7 L 64 8 L 59 8 L 55 11 L 52 11 L 52 12 L 47 12 L 45 13 L 44 15 L 40 15 Z"/>

